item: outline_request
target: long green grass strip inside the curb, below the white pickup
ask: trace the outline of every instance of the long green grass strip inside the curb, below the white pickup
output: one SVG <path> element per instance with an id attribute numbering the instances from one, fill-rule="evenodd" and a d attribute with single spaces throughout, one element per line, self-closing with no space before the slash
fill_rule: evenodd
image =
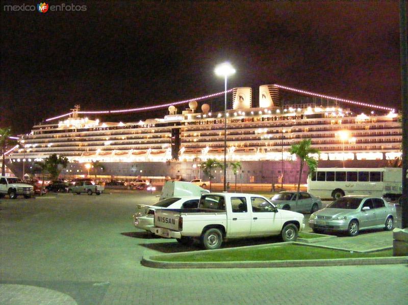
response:
<path id="1" fill-rule="evenodd" d="M 282 245 L 262 248 L 235 248 L 227 251 L 192 252 L 171 256 L 151 257 L 157 261 L 167 262 L 236 262 L 236 261 L 281 261 L 281 260 L 315 260 L 340 258 L 391 257 L 392 249 L 373 253 L 356 253 L 312 246 Z"/>

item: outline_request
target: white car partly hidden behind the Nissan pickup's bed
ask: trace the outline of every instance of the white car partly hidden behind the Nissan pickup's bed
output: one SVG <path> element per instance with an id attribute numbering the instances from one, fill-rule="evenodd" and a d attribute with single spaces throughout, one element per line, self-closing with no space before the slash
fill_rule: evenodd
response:
<path id="1" fill-rule="evenodd" d="M 155 211 L 157 209 L 196 209 L 198 207 L 199 197 L 171 197 L 152 205 L 136 206 L 136 213 L 133 215 L 133 224 L 138 229 L 150 232 L 154 226 Z"/>

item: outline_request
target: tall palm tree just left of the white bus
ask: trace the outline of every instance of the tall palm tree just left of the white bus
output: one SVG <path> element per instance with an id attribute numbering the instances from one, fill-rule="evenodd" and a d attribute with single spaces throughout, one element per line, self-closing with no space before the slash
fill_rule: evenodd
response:
<path id="1" fill-rule="evenodd" d="M 293 144 L 291 148 L 289 149 L 289 152 L 292 155 L 296 155 L 300 159 L 300 171 L 299 171 L 299 181 L 297 183 L 297 196 L 296 196 L 296 206 L 297 206 L 297 200 L 299 198 L 299 189 L 300 189 L 300 181 L 302 177 L 302 170 L 303 170 L 303 165 L 304 162 L 309 167 L 309 174 L 313 173 L 317 169 L 317 160 L 309 156 L 309 154 L 320 154 L 320 150 L 317 148 L 311 147 L 312 145 L 312 139 L 304 139 L 298 144 Z"/>

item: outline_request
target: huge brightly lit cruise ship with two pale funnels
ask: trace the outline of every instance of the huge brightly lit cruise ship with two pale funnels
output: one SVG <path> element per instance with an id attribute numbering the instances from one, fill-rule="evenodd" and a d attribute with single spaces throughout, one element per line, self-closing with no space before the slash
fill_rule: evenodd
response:
<path id="1" fill-rule="evenodd" d="M 239 182 L 296 183 L 299 164 L 288 151 L 304 138 L 321 151 L 315 156 L 319 167 L 384 167 L 401 156 L 402 129 L 391 108 L 276 84 L 259 87 L 256 106 L 252 88 L 228 93 L 232 107 L 226 110 L 226 158 L 241 161 Z M 224 110 L 199 105 L 200 100 L 190 100 L 180 110 L 180 103 L 166 106 L 161 118 L 127 123 L 104 122 L 104 112 L 84 112 L 76 105 L 69 114 L 19 135 L 20 147 L 8 155 L 7 166 L 17 176 L 23 168 L 35 173 L 35 161 L 56 153 L 69 159 L 61 172 L 68 178 L 205 179 L 201 162 L 224 159 Z M 95 160 L 104 164 L 104 171 L 86 168 Z M 304 181 L 307 174 L 305 169 Z M 214 176 L 222 182 L 223 171 L 215 169 Z M 235 181 L 229 169 L 227 180 Z"/>

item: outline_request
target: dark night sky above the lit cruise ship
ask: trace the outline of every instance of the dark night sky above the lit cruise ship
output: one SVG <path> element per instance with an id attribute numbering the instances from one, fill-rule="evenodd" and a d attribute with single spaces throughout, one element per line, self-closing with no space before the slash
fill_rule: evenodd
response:
<path id="1" fill-rule="evenodd" d="M 77 103 L 120 109 L 220 92 L 214 67 L 226 60 L 237 70 L 228 87 L 252 87 L 254 105 L 260 85 L 277 83 L 400 108 L 397 1 L 75 2 L 87 11 L 46 13 L 7 4 L 18 3 L 1 6 L 0 127 L 14 133 Z"/>

